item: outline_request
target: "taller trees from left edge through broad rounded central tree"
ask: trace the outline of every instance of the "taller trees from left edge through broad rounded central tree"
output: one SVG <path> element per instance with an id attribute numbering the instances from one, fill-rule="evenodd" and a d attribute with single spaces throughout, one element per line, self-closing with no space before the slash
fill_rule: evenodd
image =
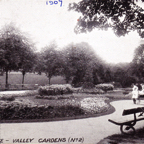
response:
<path id="1" fill-rule="evenodd" d="M 51 78 L 57 75 L 74 85 L 110 81 L 110 72 L 107 70 L 106 76 L 104 67 L 104 61 L 87 43 L 71 43 L 59 51 L 56 43 L 51 43 L 36 53 L 34 44 L 15 26 L 8 25 L 1 30 L 0 68 L 6 74 L 6 87 L 10 71 L 22 72 L 22 84 L 26 72 L 44 72 L 49 84 Z"/>

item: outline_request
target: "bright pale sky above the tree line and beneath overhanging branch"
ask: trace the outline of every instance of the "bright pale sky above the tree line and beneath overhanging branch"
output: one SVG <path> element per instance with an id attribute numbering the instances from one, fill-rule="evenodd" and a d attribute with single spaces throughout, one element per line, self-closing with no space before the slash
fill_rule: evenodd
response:
<path id="1" fill-rule="evenodd" d="M 53 0 L 51 0 L 53 1 Z M 68 11 L 68 4 L 79 0 L 59 0 L 50 5 L 49 0 L 1 0 L 0 29 L 15 24 L 35 43 L 37 50 L 56 41 L 59 48 L 71 42 L 87 42 L 108 63 L 131 62 L 134 50 L 143 43 L 136 32 L 117 37 L 113 31 L 93 30 L 75 34 L 74 27 L 80 13 Z"/>

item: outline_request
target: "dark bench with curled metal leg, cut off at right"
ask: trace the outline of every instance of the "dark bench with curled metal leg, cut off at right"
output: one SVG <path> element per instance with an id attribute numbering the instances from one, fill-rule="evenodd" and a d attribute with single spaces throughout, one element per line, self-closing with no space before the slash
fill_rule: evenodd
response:
<path id="1" fill-rule="evenodd" d="M 138 116 L 136 116 L 136 113 L 139 113 Z M 119 125 L 120 126 L 120 131 L 123 134 L 127 134 L 127 135 L 134 135 L 135 134 L 135 128 L 134 125 L 141 120 L 144 120 L 143 116 L 144 113 L 144 107 L 138 107 L 138 108 L 133 108 L 133 109 L 126 109 L 123 111 L 122 116 L 126 116 L 126 115 L 134 115 L 134 118 L 132 120 L 128 120 L 128 121 L 124 121 L 124 122 L 116 122 L 114 120 L 109 119 L 108 121 Z"/>

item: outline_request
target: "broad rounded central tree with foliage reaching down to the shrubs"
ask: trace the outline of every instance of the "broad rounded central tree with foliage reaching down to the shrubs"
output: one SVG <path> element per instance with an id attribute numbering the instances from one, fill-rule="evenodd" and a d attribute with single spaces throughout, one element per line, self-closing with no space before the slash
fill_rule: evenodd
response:
<path id="1" fill-rule="evenodd" d="M 93 82 L 93 67 L 99 57 L 87 43 L 69 44 L 63 50 L 63 76 L 74 86 Z"/>

